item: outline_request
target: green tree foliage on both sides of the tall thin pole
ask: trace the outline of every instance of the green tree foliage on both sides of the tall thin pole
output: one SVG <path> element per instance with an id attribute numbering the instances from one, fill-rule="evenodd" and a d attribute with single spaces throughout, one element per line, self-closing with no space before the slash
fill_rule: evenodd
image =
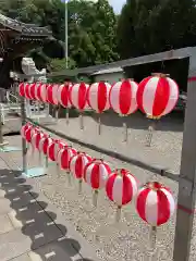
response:
<path id="1" fill-rule="evenodd" d="M 65 3 L 61 0 L 0 0 L 3 14 L 24 23 L 48 26 L 56 41 L 38 50 L 39 58 L 64 57 Z M 115 61 L 117 17 L 107 0 L 70 0 L 68 3 L 69 57 L 74 66 Z M 34 58 L 38 55 L 34 51 Z M 45 59 L 48 63 L 48 59 Z"/>

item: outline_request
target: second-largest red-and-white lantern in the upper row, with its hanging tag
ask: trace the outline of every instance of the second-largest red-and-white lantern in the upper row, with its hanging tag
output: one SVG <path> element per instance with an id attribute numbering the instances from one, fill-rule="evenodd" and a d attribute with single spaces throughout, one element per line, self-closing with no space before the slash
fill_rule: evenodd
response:
<path id="1" fill-rule="evenodd" d="M 132 79 L 124 79 L 114 84 L 109 94 L 110 105 L 121 116 L 130 115 L 137 110 L 138 85 Z M 127 141 L 127 125 L 123 123 L 124 141 Z"/>

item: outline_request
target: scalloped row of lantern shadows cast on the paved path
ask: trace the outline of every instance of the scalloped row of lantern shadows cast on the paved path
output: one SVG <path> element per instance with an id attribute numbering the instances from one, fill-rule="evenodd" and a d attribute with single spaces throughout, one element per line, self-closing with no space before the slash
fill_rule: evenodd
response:
<path id="1" fill-rule="evenodd" d="M 0 170 L 1 189 L 13 210 L 9 217 L 15 228 L 30 238 L 32 245 L 27 250 L 40 260 L 72 261 L 79 254 L 78 241 L 66 237 L 66 227 L 54 223 L 56 213 L 46 211 L 47 203 L 37 201 L 38 194 L 32 191 L 32 186 L 25 185 L 25 179 L 20 176 L 19 171 Z M 93 261 L 82 257 L 79 260 Z"/>

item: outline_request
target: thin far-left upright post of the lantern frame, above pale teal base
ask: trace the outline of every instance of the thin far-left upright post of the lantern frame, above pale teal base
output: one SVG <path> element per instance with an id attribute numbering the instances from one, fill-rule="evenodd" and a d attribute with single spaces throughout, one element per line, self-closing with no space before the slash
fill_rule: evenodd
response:
<path id="1" fill-rule="evenodd" d="M 25 111 L 25 99 L 21 97 L 21 121 L 22 126 L 25 125 L 26 111 Z M 27 146 L 26 140 L 22 138 L 22 149 L 23 149 L 23 173 L 27 174 Z"/>

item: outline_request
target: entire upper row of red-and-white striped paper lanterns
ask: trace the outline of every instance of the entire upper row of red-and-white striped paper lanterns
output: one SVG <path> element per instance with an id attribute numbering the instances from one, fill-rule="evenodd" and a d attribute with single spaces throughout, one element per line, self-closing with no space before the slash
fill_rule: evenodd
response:
<path id="1" fill-rule="evenodd" d="M 148 117 L 159 119 L 170 113 L 179 100 L 179 86 L 167 75 L 157 74 L 143 79 L 139 84 L 124 79 L 113 84 L 21 83 L 20 95 L 51 104 L 71 105 L 81 112 L 89 105 L 97 113 L 113 109 L 120 115 L 128 115 L 137 109 Z"/>

